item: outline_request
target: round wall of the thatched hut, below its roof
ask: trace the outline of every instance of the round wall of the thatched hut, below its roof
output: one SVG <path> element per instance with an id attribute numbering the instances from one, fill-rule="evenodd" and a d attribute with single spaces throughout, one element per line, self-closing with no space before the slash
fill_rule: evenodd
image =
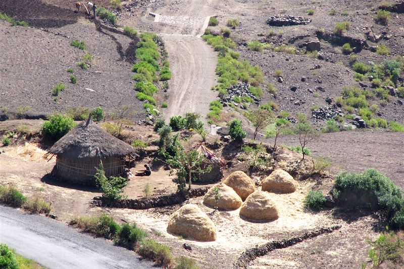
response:
<path id="1" fill-rule="evenodd" d="M 95 167 L 98 167 L 101 162 L 107 177 L 119 176 L 124 172 L 125 161 L 123 157 L 70 159 L 58 156 L 56 159 L 56 176 L 66 182 L 95 186 Z"/>

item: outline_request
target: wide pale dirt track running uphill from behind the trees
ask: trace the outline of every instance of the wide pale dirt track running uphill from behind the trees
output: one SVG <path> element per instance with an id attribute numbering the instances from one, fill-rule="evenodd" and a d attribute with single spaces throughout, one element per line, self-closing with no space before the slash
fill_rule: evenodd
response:
<path id="1" fill-rule="evenodd" d="M 157 10 L 155 22 L 163 25 L 159 33 L 169 55 L 172 79 L 165 117 L 199 113 L 206 117 L 209 103 L 217 97 L 216 52 L 200 38 L 214 14 L 213 0 L 169 1 Z"/>

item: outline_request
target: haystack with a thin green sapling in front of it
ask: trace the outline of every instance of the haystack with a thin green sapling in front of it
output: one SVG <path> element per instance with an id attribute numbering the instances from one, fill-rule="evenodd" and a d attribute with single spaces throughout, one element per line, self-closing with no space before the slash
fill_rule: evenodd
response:
<path id="1" fill-rule="evenodd" d="M 218 209 L 221 210 L 236 210 L 241 207 L 242 200 L 240 196 L 226 184 L 217 184 L 208 190 L 204 197 L 204 204 L 215 208 L 215 187 L 219 188 L 220 197 L 218 199 Z"/>

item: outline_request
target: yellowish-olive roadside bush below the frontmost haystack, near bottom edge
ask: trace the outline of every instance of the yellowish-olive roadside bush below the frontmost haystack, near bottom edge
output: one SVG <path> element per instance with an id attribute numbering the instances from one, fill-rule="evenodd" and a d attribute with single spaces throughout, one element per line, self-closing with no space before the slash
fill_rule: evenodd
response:
<path id="1" fill-rule="evenodd" d="M 148 239 L 140 244 L 139 255 L 153 259 L 158 265 L 168 266 L 173 263 L 173 256 L 168 246 Z"/>

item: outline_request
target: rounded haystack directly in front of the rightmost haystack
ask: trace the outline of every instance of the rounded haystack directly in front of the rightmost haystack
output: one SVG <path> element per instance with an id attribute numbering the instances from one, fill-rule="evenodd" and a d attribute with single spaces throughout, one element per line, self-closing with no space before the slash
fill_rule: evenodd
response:
<path id="1" fill-rule="evenodd" d="M 240 215 L 256 221 L 273 221 L 279 218 L 271 194 L 257 190 L 250 194 L 241 206 Z"/>

